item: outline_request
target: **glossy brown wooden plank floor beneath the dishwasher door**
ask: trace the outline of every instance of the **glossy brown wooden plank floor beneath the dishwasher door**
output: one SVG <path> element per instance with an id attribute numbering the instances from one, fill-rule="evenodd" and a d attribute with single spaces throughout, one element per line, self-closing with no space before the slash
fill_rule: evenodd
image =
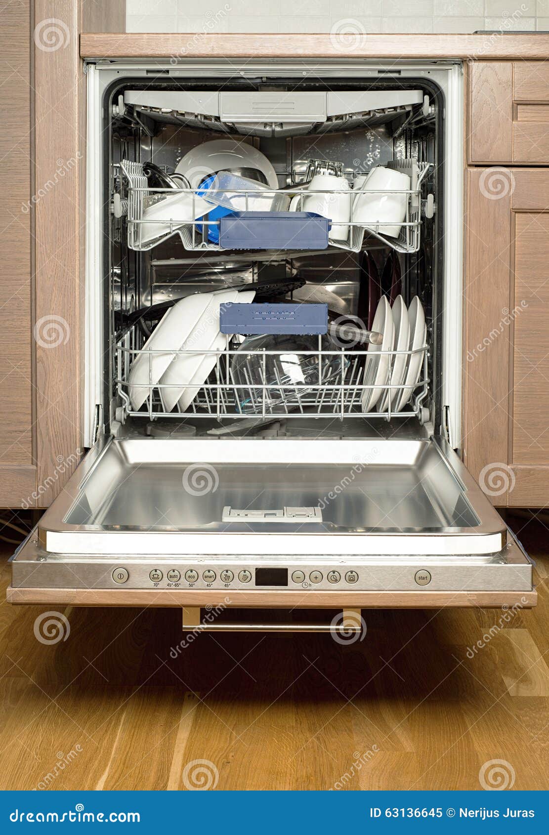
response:
<path id="1" fill-rule="evenodd" d="M 546 788 L 549 537 L 510 521 L 536 610 L 365 611 L 350 645 L 218 634 L 177 652 L 180 613 L 135 609 L 65 610 L 69 637 L 44 645 L 44 607 L 0 605 L 0 788 L 480 789 L 491 760 Z M 8 578 L 3 561 L 3 596 Z"/>

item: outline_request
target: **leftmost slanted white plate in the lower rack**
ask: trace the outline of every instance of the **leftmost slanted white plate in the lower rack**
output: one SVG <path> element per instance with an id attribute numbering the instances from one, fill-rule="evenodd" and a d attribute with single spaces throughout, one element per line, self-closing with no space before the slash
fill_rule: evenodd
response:
<path id="1" fill-rule="evenodd" d="M 140 352 L 130 368 L 129 393 L 130 401 L 135 411 L 143 406 L 149 397 L 148 384 L 155 386 L 160 377 L 186 337 L 189 336 L 196 321 L 211 301 L 212 293 L 195 293 L 181 299 L 169 311 L 166 311 L 160 322 L 145 342 L 143 349 L 161 351 L 165 353 L 149 354 Z M 146 386 L 146 387 L 145 387 Z"/>

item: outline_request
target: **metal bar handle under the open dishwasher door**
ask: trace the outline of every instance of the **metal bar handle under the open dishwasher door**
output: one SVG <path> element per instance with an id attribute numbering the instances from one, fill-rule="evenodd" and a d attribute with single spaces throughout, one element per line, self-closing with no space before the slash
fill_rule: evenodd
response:
<path id="1" fill-rule="evenodd" d="M 248 610 L 253 611 L 253 610 Z M 253 621 L 223 622 L 202 617 L 200 606 L 183 606 L 183 630 L 196 632 L 330 632 L 333 635 L 352 635 L 364 629 L 362 610 L 343 609 L 328 623 L 260 623 Z"/>

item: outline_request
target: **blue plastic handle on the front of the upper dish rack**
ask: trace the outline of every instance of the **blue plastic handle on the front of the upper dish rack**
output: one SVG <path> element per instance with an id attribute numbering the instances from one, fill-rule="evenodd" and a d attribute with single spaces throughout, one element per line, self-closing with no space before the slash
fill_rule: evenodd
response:
<path id="1" fill-rule="evenodd" d="M 226 250 L 325 250 L 331 220 L 308 211 L 237 211 L 220 220 Z"/>

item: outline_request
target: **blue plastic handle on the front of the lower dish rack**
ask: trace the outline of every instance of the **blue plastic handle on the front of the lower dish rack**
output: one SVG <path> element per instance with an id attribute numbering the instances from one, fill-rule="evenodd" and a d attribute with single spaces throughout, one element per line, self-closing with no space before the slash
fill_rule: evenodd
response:
<path id="1" fill-rule="evenodd" d="M 255 336 L 273 334 L 322 334 L 328 332 L 328 305 L 286 301 L 279 304 L 239 304 L 227 301 L 219 307 L 221 333 Z"/>

